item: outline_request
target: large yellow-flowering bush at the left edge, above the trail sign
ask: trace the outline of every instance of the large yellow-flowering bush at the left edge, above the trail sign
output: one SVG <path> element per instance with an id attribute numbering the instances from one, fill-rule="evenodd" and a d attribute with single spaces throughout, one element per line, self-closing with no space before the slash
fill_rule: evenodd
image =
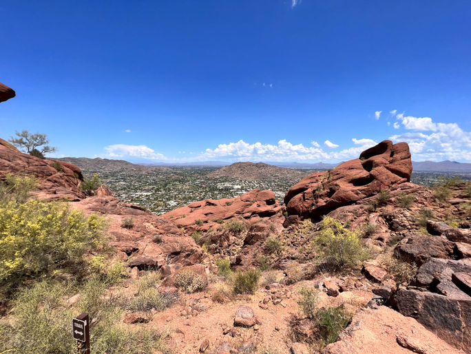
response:
<path id="1" fill-rule="evenodd" d="M 105 243 L 105 222 L 61 202 L 0 204 L 0 289 L 81 262 Z"/>

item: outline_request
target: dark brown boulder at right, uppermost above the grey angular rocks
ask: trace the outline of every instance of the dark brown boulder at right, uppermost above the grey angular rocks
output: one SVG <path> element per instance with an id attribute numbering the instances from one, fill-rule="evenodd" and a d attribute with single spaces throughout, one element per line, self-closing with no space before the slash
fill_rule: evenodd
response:
<path id="1" fill-rule="evenodd" d="M 414 262 L 420 267 L 430 258 L 449 258 L 454 244 L 440 236 L 412 235 L 397 244 L 394 254 L 397 258 Z"/>

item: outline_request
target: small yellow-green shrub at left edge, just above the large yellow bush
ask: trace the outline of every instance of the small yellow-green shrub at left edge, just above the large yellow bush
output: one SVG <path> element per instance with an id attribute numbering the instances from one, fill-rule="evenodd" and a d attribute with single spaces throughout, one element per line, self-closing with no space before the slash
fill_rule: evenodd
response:
<path id="1" fill-rule="evenodd" d="M 0 203 L 23 203 L 37 186 L 38 180 L 34 176 L 7 174 L 4 181 L 0 180 Z"/>

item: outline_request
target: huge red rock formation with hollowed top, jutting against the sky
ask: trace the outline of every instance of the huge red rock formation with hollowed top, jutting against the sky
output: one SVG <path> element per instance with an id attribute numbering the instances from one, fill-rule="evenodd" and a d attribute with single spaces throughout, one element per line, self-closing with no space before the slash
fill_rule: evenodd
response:
<path id="1" fill-rule="evenodd" d="M 362 152 L 359 158 L 331 171 L 311 174 L 291 187 L 284 197 L 286 211 L 301 218 L 322 216 L 382 189 L 409 182 L 411 173 L 407 143 L 384 140 Z"/>

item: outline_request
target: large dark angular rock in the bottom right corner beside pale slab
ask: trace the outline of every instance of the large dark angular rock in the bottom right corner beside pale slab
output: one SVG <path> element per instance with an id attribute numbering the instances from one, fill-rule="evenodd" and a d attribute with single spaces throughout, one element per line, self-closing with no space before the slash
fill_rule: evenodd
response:
<path id="1" fill-rule="evenodd" d="M 471 348 L 471 298 L 454 299 L 428 291 L 401 289 L 392 299 L 400 313 L 414 317 L 457 348 Z"/>

